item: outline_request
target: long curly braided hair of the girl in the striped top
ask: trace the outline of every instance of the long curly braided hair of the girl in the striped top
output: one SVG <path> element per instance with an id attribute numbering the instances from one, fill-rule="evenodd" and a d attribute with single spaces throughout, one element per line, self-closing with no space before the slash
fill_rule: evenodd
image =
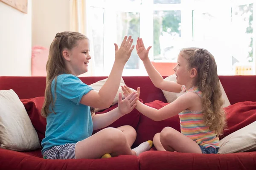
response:
<path id="1" fill-rule="evenodd" d="M 203 48 L 183 48 L 180 52 L 181 56 L 188 60 L 188 68 L 196 68 L 198 72 L 194 85 L 203 94 L 204 123 L 219 136 L 226 127 L 226 114 L 215 59 Z"/>

